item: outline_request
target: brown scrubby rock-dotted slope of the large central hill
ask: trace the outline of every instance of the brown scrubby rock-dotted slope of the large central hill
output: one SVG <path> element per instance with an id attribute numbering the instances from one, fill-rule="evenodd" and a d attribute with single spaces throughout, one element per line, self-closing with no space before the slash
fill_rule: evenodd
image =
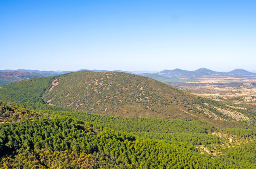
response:
<path id="1" fill-rule="evenodd" d="M 80 71 L 58 76 L 42 98 L 51 105 L 88 113 L 195 119 L 170 102 L 170 95 L 180 92 L 184 93 L 162 82 L 133 74 Z"/>

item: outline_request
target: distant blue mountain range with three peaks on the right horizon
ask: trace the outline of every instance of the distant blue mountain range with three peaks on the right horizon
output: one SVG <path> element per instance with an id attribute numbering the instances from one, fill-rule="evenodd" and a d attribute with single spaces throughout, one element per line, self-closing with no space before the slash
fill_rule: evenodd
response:
<path id="1" fill-rule="evenodd" d="M 232 75 L 254 75 L 252 72 L 248 72 L 242 69 L 236 69 L 231 72 L 215 72 L 206 68 L 200 68 L 198 70 L 163 70 L 157 73 L 158 75 L 169 77 L 169 78 L 201 78 L 201 77 L 218 77 L 218 76 L 232 76 Z"/>

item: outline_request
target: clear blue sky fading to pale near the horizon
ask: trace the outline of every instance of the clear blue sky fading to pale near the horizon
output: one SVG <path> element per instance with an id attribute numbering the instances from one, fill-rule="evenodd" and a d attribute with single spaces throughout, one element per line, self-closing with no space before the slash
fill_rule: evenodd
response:
<path id="1" fill-rule="evenodd" d="M 1 0 L 0 70 L 256 72 L 255 0 Z"/>

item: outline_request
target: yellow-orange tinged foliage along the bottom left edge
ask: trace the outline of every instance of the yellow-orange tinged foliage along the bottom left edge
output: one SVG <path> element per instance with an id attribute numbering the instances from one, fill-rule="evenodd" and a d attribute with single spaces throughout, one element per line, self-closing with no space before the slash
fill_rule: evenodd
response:
<path id="1" fill-rule="evenodd" d="M 94 169 L 98 167 L 97 158 L 90 154 L 74 151 L 49 151 L 48 149 L 19 149 L 14 158 L 2 158 L 3 168 L 33 169 Z"/>

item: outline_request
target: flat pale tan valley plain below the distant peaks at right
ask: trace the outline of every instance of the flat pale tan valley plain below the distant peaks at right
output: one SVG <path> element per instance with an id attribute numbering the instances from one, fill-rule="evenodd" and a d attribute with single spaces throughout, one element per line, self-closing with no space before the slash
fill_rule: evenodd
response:
<path id="1" fill-rule="evenodd" d="M 165 82 L 188 91 L 194 95 L 215 99 L 218 101 L 232 101 L 234 103 L 252 103 L 256 101 L 256 78 L 232 80 L 199 80 L 200 82 Z"/>

